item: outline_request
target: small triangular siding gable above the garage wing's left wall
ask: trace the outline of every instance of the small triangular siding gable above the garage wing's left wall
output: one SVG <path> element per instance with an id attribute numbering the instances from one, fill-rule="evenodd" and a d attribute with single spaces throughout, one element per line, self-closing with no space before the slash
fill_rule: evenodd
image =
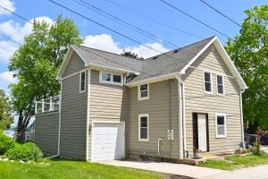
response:
<path id="1" fill-rule="evenodd" d="M 69 64 L 67 65 L 63 78 L 75 72 L 80 72 L 85 69 L 85 63 L 80 59 L 80 56 L 75 52 L 72 53 Z"/>

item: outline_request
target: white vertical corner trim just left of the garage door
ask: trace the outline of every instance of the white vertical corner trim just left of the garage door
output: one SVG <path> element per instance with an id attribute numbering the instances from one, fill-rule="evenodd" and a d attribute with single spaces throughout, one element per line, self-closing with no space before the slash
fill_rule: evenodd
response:
<path id="1" fill-rule="evenodd" d="M 91 79 L 91 70 L 88 69 L 88 101 L 87 101 L 87 136 L 86 136 L 86 160 L 89 160 L 88 158 L 88 148 L 89 148 L 89 139 L 88 139 L 88 136 L 89 136 L 89 109 L 90 109 L 90 79 Z"/>

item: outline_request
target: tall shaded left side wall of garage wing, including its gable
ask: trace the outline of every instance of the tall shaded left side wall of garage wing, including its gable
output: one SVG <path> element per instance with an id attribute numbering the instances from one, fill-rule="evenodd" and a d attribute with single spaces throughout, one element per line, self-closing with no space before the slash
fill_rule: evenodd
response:
<path id="1" fill-rule="evenodd" d="M 65 75 L 84 70 L 82 60 L 73 54 Z M 86 72 L 88 81 L 88 72 Z M 61 158 L 86 159 L 87 133 L 87 103 L 88 82 L 86 91 L 80 93 L 80 73 L 62 81 L 62 128 L 61 128 Z"/>

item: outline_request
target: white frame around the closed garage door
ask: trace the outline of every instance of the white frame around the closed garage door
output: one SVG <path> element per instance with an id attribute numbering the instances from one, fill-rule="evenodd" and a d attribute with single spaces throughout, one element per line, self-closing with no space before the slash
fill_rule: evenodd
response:
<path id="1" fill-rule="evenodd" d="M 91 122 L 92 123 L 92 128 L 90 129 L 90 137 L 91 137 L 91 146 L 90 146 L 90 150 L 91 150 L 91 152 L 90 152 L 90 160 L 91 161 L 93 161 L 92 160 L 92 156 L 93 156 L 93 145 L 94 145 L 94 143 L 93 143 L 93 127 L 94 127 L 94 124 L 123 124 L 123 128 L 124 128 L 124 133 L 123 133 L 123 137 L 124 137 L 124 140 L 123 140 L 123 142 L 124 142 L 124 149 L 123 149 L 123 151 L 124 151 L 124 157 L 123 158 L 126 158 L 126 123 L 124 122 L 124 121 L 92 121 Z"/>

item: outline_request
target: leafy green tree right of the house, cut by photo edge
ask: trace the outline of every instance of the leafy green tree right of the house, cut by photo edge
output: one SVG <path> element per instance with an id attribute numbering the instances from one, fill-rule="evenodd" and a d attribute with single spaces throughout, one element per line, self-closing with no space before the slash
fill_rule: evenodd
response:
<path id="1" fill-rule="evenodd" d="M 243 94 L 244 124 L 268 129 L 268 5 L 249 9 L 247 18 L 226 50 L 246 81 Z"/>

